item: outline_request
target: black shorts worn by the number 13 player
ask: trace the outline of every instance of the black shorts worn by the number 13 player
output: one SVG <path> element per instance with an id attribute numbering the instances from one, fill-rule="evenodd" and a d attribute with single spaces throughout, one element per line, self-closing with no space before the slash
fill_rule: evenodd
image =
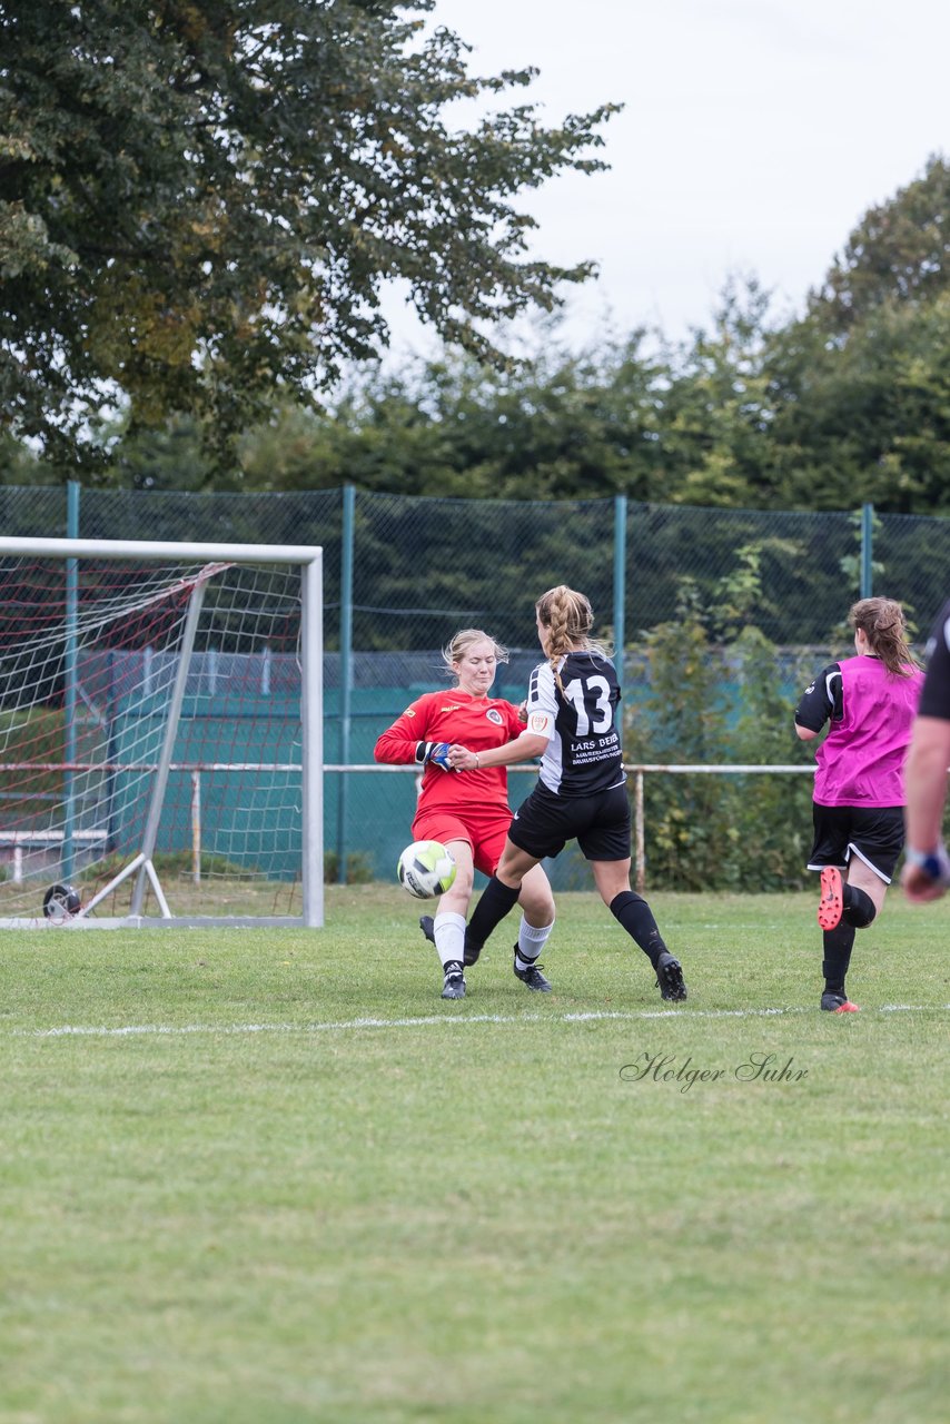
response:
<path id="1" fill-rule="evenodd" d="M 538 782 L 516 810 L 508 839 L 537 860 L 560 856 L 568 840 L 575 840 L 588 860 L 628 860 L 627 785 L 594 796 L 555 796 Z"/>

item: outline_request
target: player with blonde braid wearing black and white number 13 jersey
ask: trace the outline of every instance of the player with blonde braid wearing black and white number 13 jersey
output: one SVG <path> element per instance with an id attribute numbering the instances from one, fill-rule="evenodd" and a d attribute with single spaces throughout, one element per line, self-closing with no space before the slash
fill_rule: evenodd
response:
<path id="1" fill-rule="evenodd" d="M 541 758 L 538 785 L 514 813 L 499 867 L 469 921 L 466 963 L 477 960 L 516 903 L 524 876 L 577 840 L 601 899 L 654 965 L 662 997 L 682 1000 L 682 968 L 649 906 L 630 886 L 631 822 L 614 664 L 591 638 L 594 614 L 584 594 L 560 584 L 538 598 L 536 612 L 547 661 L 531 675 L 524 732 L 479 756 L 464 746 L 449 752 L 450 765 L 461 772 Z M 514 973 L 524 978 L 533 970 L 516 947 Z"/>

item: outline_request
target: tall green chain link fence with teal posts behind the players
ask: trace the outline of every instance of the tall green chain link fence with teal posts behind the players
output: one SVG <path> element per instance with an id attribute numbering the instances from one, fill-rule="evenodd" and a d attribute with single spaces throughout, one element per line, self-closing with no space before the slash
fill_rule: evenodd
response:
<path id="1" fill-rule="evenodd" d="M 711 645 L 751 624 L 796 669 L 812 654 L 818 668 L 823 654 L 847 651 L 847 608 L 870 594 L 897 598 L 922 644 L 947 597 L 950 570 L 950 520 L 876 514 L 869 506 L 810 514 L 624 497 L 551 503 L 352 488 L 181 494 L 73 486 L 0 487 L 0 517 L 9 535 L 322 545 L 325 760 L 348 768 L 370 768 L 380 731 L 444 681 L 440 648 L 459 628 L 484 628 L 511 649 L 494 695 L 520 701 L 538 659 L 534 601 L 554 584 L 591 600 L 598 634 L 621 649 L 627 715 L 635 718 L 649 679 L 644 645 L 691 609 L 705 619 Z M 769 755 L 769 763 L 793 759 L 798 691 L 789 684 L 786 693 L 789 755 Z M 527 776 L 513 779 L 516 805 L 530 785 Z M 412 773 L 328 773 L 333 879 L 395 873 L 414 795 Z M 0 817 L 1 807 L 0 800 Z M 648 822 L 648 862 L 649 837 Z M 568 883 L 577 867 L 568 857 L 557 870 Z"/>

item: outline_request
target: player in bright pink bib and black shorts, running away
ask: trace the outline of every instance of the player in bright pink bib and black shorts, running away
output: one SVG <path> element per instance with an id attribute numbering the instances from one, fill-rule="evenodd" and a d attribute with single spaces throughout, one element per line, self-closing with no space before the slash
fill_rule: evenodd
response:
<path id="1" fill-rule="evenodd" d="M 884 903 L 904 843 L 903 765 L 923 686 L 893 598 L 862 598 L 847 615 L 855 658 L 822 668 L 795 709 L 802 740 L 818 748 L 815 844 L 809 870 L 822 876 L 822 1008 L 855 1012 L 845 993 L 855 931 Z"/>

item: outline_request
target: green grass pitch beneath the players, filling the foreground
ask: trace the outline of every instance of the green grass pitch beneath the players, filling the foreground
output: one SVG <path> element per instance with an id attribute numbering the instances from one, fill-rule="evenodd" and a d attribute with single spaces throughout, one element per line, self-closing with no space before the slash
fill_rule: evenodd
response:
<path id="1" fill-rule="evenodd" d="M 651 903 L 684 1005 L 593 894 L 449 1004 L 397 889 L 4 934 L 0 1421 L 946 1420 L 950 901 L 852 1015 L 812 896 Z"/>

